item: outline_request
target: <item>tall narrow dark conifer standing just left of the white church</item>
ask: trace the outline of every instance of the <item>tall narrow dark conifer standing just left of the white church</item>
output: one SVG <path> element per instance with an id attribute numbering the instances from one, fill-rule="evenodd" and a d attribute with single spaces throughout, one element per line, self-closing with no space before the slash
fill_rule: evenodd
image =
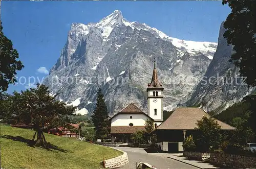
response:
<path id="1" fill-rule="evenodd" d="M 93 111 L 92 121 L 95 126 L 94 130 L 96 132 L 95 137 L 97 139 L 102 139 L 108 137 L 109 134 L 109 112 L 108 108 L 106 107 L 104 95 L 99 88 L 97 97 L 96 108 Z"/>

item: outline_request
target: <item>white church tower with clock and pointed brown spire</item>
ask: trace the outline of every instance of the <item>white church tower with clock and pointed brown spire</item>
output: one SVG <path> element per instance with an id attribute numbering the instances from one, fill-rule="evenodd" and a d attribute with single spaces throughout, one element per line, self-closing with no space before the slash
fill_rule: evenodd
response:
<path id="1" fill-rule="evenodd" d="M 163 122 L 163 87 L 157 77 L 156 60 L 151 83 L 147 85 L 147 114 L 159 126 Z"/>

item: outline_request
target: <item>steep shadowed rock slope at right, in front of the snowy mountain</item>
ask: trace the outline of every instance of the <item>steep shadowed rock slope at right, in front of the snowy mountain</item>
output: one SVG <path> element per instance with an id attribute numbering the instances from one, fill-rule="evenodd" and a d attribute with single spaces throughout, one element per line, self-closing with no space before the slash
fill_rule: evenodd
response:
<path id="1" fill-rule="evenodd" d="M 232 46 L 223 37 L 225 29 L 220 27 L 217 51 L 208 66 L 202 81 L 197 85 L 186 106 L 197 106 L 213 113 L 220 113 L 229 106 L 241 101 L 254 88 L 248 88 L 245 78 L 239 74 L 239 68 L 229 59 Z"/>

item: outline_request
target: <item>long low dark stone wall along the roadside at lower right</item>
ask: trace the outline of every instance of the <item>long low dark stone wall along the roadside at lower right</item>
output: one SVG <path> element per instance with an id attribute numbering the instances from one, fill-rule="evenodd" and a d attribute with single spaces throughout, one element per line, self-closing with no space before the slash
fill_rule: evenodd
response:
<path id="1" fill-rule="evenodd" d="M 184 157 L 209 162 L 228 168 L 256 168 L 256 157 L 226 153 L 184 152 Z"/>

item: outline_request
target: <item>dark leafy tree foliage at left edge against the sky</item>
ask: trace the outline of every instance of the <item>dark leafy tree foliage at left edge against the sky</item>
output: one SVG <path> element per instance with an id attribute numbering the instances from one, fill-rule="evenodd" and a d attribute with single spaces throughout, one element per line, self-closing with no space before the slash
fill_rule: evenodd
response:
<path id="1" fill-rule="evenodd" d="M 7 91 L 9 84 L 15 83 L 16 70 L 24 66 L 17 61 L 18 52 L 13 49 L 12 41 L 3 33 L 2 22 L 0 21 L 0 99 L 4 91 Z"/>

